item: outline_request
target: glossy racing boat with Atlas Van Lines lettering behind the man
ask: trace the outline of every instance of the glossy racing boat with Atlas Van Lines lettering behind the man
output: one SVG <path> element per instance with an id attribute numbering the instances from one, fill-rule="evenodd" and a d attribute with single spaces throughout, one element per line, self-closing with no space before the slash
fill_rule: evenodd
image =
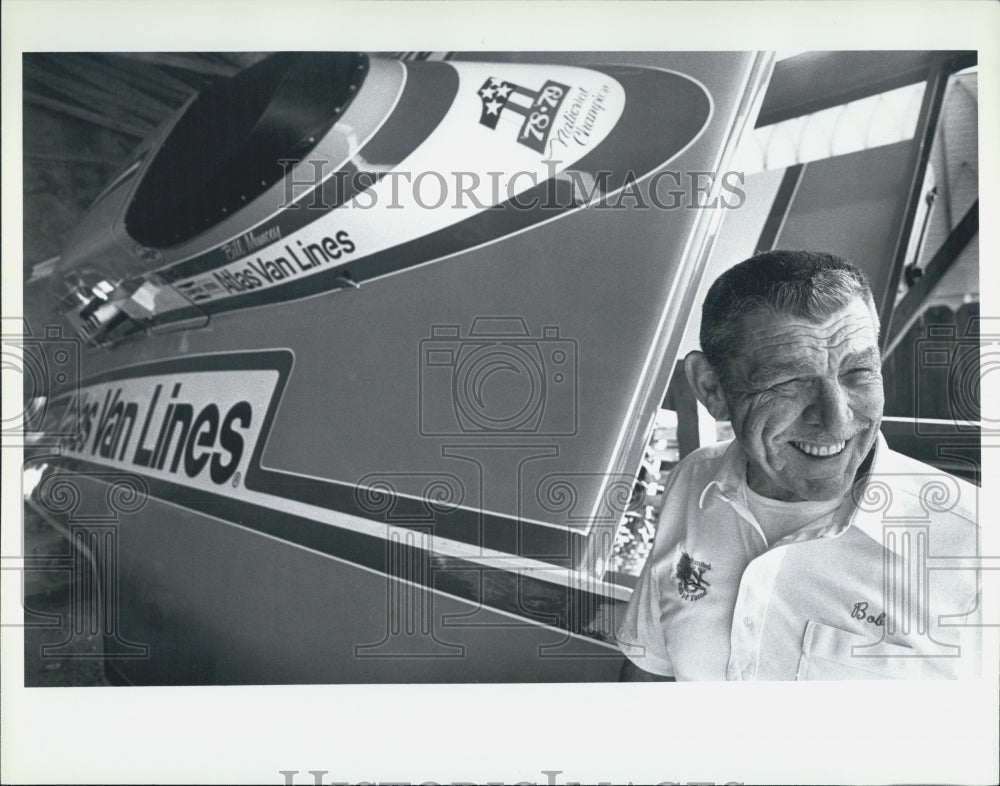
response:
<path id="1" fill-rule="evenodd" d="M 604 569 L 769 63 L 548 58 L 341 58 L 350 100 L 246 193 L 239 144 L 171 180 L 196 99 L 27 293 L 110 287 L 47 317 L 89 340 L 35 504 L 109 509 L 119 676 L 616 677 Z"/>

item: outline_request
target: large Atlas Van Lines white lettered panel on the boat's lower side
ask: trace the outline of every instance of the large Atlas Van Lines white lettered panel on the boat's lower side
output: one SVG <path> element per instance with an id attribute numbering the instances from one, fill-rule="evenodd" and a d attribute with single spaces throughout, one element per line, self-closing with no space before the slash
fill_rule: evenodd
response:
<path id="1" fill-rule="evenodd" d="M 59 423 L 68 456 L 214 489 L 237 484 L 278 382 L 271 369 L 192 371 L 82 387 Z M 67 423 L 79 418 L 76 428 Z M 239 473 L 239 474 L 238 474 Z"/>

